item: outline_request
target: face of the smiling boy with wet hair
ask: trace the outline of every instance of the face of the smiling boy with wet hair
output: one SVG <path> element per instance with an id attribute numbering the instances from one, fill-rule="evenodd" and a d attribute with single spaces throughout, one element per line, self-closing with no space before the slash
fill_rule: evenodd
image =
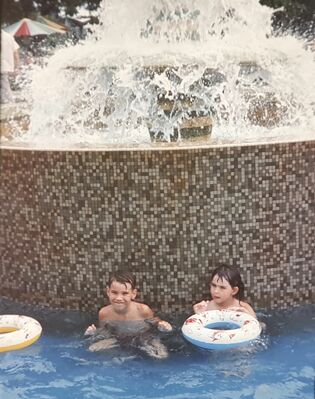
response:
<path id="1" fill-rule="evenodd" d="M 125 310 L 136 298 L 137 290 L 132 289 L 130 283 L 123 284 L 113 281 L 110 287 L 107 287 L 106 293 L 111 305 L 119 312 Z"/>

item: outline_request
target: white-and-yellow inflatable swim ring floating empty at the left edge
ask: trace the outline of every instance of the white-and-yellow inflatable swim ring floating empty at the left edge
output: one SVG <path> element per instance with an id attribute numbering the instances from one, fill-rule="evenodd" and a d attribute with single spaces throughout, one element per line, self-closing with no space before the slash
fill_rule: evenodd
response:
<path id="1" fill-rule="evenodd" d="M 0 315 L 0 352 L 25 348 L 38 340 L 42 326 L 32 317 Z"/>

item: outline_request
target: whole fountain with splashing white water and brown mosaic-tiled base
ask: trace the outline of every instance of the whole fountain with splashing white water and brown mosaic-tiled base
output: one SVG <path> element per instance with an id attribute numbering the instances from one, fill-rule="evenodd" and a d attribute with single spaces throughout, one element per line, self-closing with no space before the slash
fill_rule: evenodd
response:
<path id="1" fill-rule="evenodd" d="M 223 261 L 256 306 L 311 301 L 314 55 L 271 15 L 108 0 L 84 43 L 34 70 L 1 120 L 2 295 L 90 310 L 130 268 L 176 311 Z"/>

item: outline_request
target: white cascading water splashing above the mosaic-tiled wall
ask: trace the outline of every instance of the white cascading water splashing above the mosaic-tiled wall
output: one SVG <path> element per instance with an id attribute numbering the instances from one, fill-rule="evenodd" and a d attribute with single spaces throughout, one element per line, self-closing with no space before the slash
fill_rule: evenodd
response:
<path id="1" fill-rule="evenodd" d="M 314 54 L 273 35 L 273 11 L 258 0 L 103 1 L 89 38 L 33 72 L 30 126 L 17 140 L 180 140 L 194 120 L 211 120 L 222 142 L 314 138 Z"/>

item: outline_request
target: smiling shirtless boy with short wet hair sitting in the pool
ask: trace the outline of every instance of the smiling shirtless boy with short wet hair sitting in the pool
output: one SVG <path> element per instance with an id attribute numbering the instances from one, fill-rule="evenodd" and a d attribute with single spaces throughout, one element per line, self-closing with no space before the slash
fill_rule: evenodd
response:
<path id="1" fill-rule="evenodd" d="M 96 334 L 103 339 L 92 344 L 93 352 L 114 348 L 118 345 L 137 347 L 148 355 L 163 359 L 168 353 L 159 337 L 152 334 L 152 325 L 160 331 L 171 331 L 172 326 L 154 317 L 149 306 L 135 301 L 137 296 L 135 277 L 126 271 L 114 273 L 107 284 L 109 305 L 98 314 L 100 328 L 89 326 L 85 334 Z"/>

